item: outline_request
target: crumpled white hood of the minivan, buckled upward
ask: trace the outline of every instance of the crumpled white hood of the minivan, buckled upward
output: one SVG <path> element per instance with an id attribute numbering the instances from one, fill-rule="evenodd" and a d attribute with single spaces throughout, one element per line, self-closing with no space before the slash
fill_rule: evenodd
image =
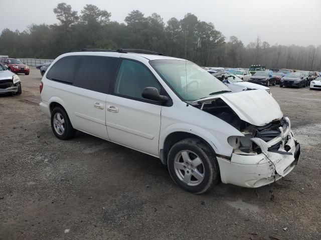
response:
<path id="1" fill-rule="evenodd" d="M 216 98 L 221 98 L 242 120 L 255 126 L 264 126 L 283 116 L 276 100 L 261 89 L 209 96 L 194 102 L 206 102 Z"/>

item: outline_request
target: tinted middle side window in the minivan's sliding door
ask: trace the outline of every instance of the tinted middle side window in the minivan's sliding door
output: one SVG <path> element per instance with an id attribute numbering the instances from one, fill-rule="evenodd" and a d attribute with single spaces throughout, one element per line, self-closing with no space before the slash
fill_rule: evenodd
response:
<path id="1" fill-rule="evenodd" d="M 107 56 L 82 56 L 73 85 L 108 93 L 109 84 L 115 77 L 119 60 L 119 58 Z"/>

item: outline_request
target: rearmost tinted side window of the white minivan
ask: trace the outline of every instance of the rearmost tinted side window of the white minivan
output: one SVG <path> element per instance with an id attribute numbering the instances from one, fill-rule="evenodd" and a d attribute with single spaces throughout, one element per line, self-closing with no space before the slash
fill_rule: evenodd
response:
<path id="1" fill-rule="evenodd" d="M 72 83 L 75 69 L 80 59 L 79 55 L 65 56 L 60 58 L 47 73 L 47 78 L 51 80 Z"/>

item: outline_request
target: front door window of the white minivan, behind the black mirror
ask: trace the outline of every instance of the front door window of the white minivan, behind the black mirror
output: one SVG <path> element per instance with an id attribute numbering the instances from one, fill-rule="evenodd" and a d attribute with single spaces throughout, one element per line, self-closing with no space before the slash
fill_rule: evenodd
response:
<path id="1" fill-rule="evenodd" d="M 142 90 L 147 87 L 156 87 L 161 92 L 161 84 L 143 64 L 123 59 L 115 82 L 114 93 L 139 99 Z"/>

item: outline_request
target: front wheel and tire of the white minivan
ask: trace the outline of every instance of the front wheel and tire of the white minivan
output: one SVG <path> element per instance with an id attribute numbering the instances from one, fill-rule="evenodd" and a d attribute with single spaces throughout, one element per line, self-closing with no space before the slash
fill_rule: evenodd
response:
<path id="1" fill-rule="evenodd" d="M 197 165 L 193 166 L 193 163 Z M 219 164 L 214 151 L 197 138 L 187 138 L 172 146 L 168 156 L 168 168 L 176 184 L 192 193 L 203 193 L 220 179 Z"/>

